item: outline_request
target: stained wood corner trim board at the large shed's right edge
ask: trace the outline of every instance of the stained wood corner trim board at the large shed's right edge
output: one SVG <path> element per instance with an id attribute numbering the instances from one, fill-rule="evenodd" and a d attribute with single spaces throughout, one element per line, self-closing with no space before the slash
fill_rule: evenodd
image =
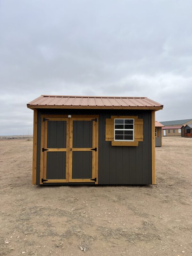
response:
<path id="1" fill-rule="evenodd" d="M 155 111 L 151 111 L 151 159 L 152 159 L 152 184 L 156 184 L 155 166 Z"/>

